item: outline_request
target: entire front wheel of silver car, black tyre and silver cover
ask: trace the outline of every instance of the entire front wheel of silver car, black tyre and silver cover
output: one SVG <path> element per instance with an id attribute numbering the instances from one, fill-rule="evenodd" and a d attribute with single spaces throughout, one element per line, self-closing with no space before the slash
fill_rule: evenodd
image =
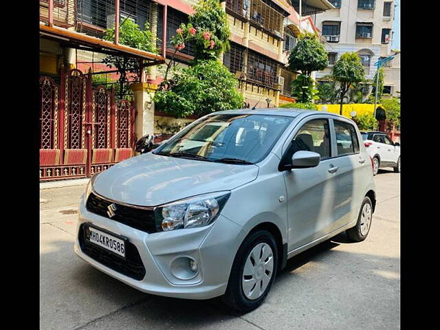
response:
<path id="1" fill-rule="evenodd" d="M 277 270 L 274 236 L 267 230 L 252 232 L 236 253 L 223 301 L 241 312 L 256 309 L 270 291 Z"/>

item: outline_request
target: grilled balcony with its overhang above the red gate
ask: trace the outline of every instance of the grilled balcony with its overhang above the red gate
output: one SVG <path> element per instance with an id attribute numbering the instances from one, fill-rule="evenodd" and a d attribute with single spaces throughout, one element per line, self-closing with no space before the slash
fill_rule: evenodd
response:
<path id="1" fill-rule="evenodd" d="M 144 29 L 151 13 L 150 0 L 39 0 L 39 3 L 40 36 L 45 39 L 61 39 L 66 47 L 151 61 L 147 65 L 164 63 L 164 56 L 119 43 L 119 27 L 127 19 Z M 103 40 L 106 30 L 115 27 L 118 28 L 114 40 Z"/>

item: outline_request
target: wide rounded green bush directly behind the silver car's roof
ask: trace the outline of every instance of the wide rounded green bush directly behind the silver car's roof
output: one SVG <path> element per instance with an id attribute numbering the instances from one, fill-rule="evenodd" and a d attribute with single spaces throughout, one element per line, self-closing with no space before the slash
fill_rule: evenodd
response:
<path id="1" fill-rule="evenodd" d="M 238 80 L 218 60 L 198 61 L 175 72 L 161 85 L 153 101 L 159 111 L 186 117 L 243 106 Z"/>

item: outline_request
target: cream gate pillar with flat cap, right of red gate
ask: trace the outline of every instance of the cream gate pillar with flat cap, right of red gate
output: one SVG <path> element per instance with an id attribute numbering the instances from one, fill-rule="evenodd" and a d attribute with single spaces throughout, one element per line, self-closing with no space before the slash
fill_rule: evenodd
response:
<path id="1" fill-rule="evenodd" d="M 150 83 L 131 84 L 135 100 L 135 140 L 142 135 L 154 133 L 153 96 L 157 85 Z"/>

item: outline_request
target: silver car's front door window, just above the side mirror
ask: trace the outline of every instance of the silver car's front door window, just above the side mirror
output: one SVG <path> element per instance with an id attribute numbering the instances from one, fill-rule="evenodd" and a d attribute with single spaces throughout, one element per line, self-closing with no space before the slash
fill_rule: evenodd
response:
<path id="1" fill-rule="evenodd" d="M 330 130 L 326 119 L 314 119 L 306 122 L 292 140 L 288 157 L 296 151 L 314 151 L 321 159 L 330 158 Z"/>

